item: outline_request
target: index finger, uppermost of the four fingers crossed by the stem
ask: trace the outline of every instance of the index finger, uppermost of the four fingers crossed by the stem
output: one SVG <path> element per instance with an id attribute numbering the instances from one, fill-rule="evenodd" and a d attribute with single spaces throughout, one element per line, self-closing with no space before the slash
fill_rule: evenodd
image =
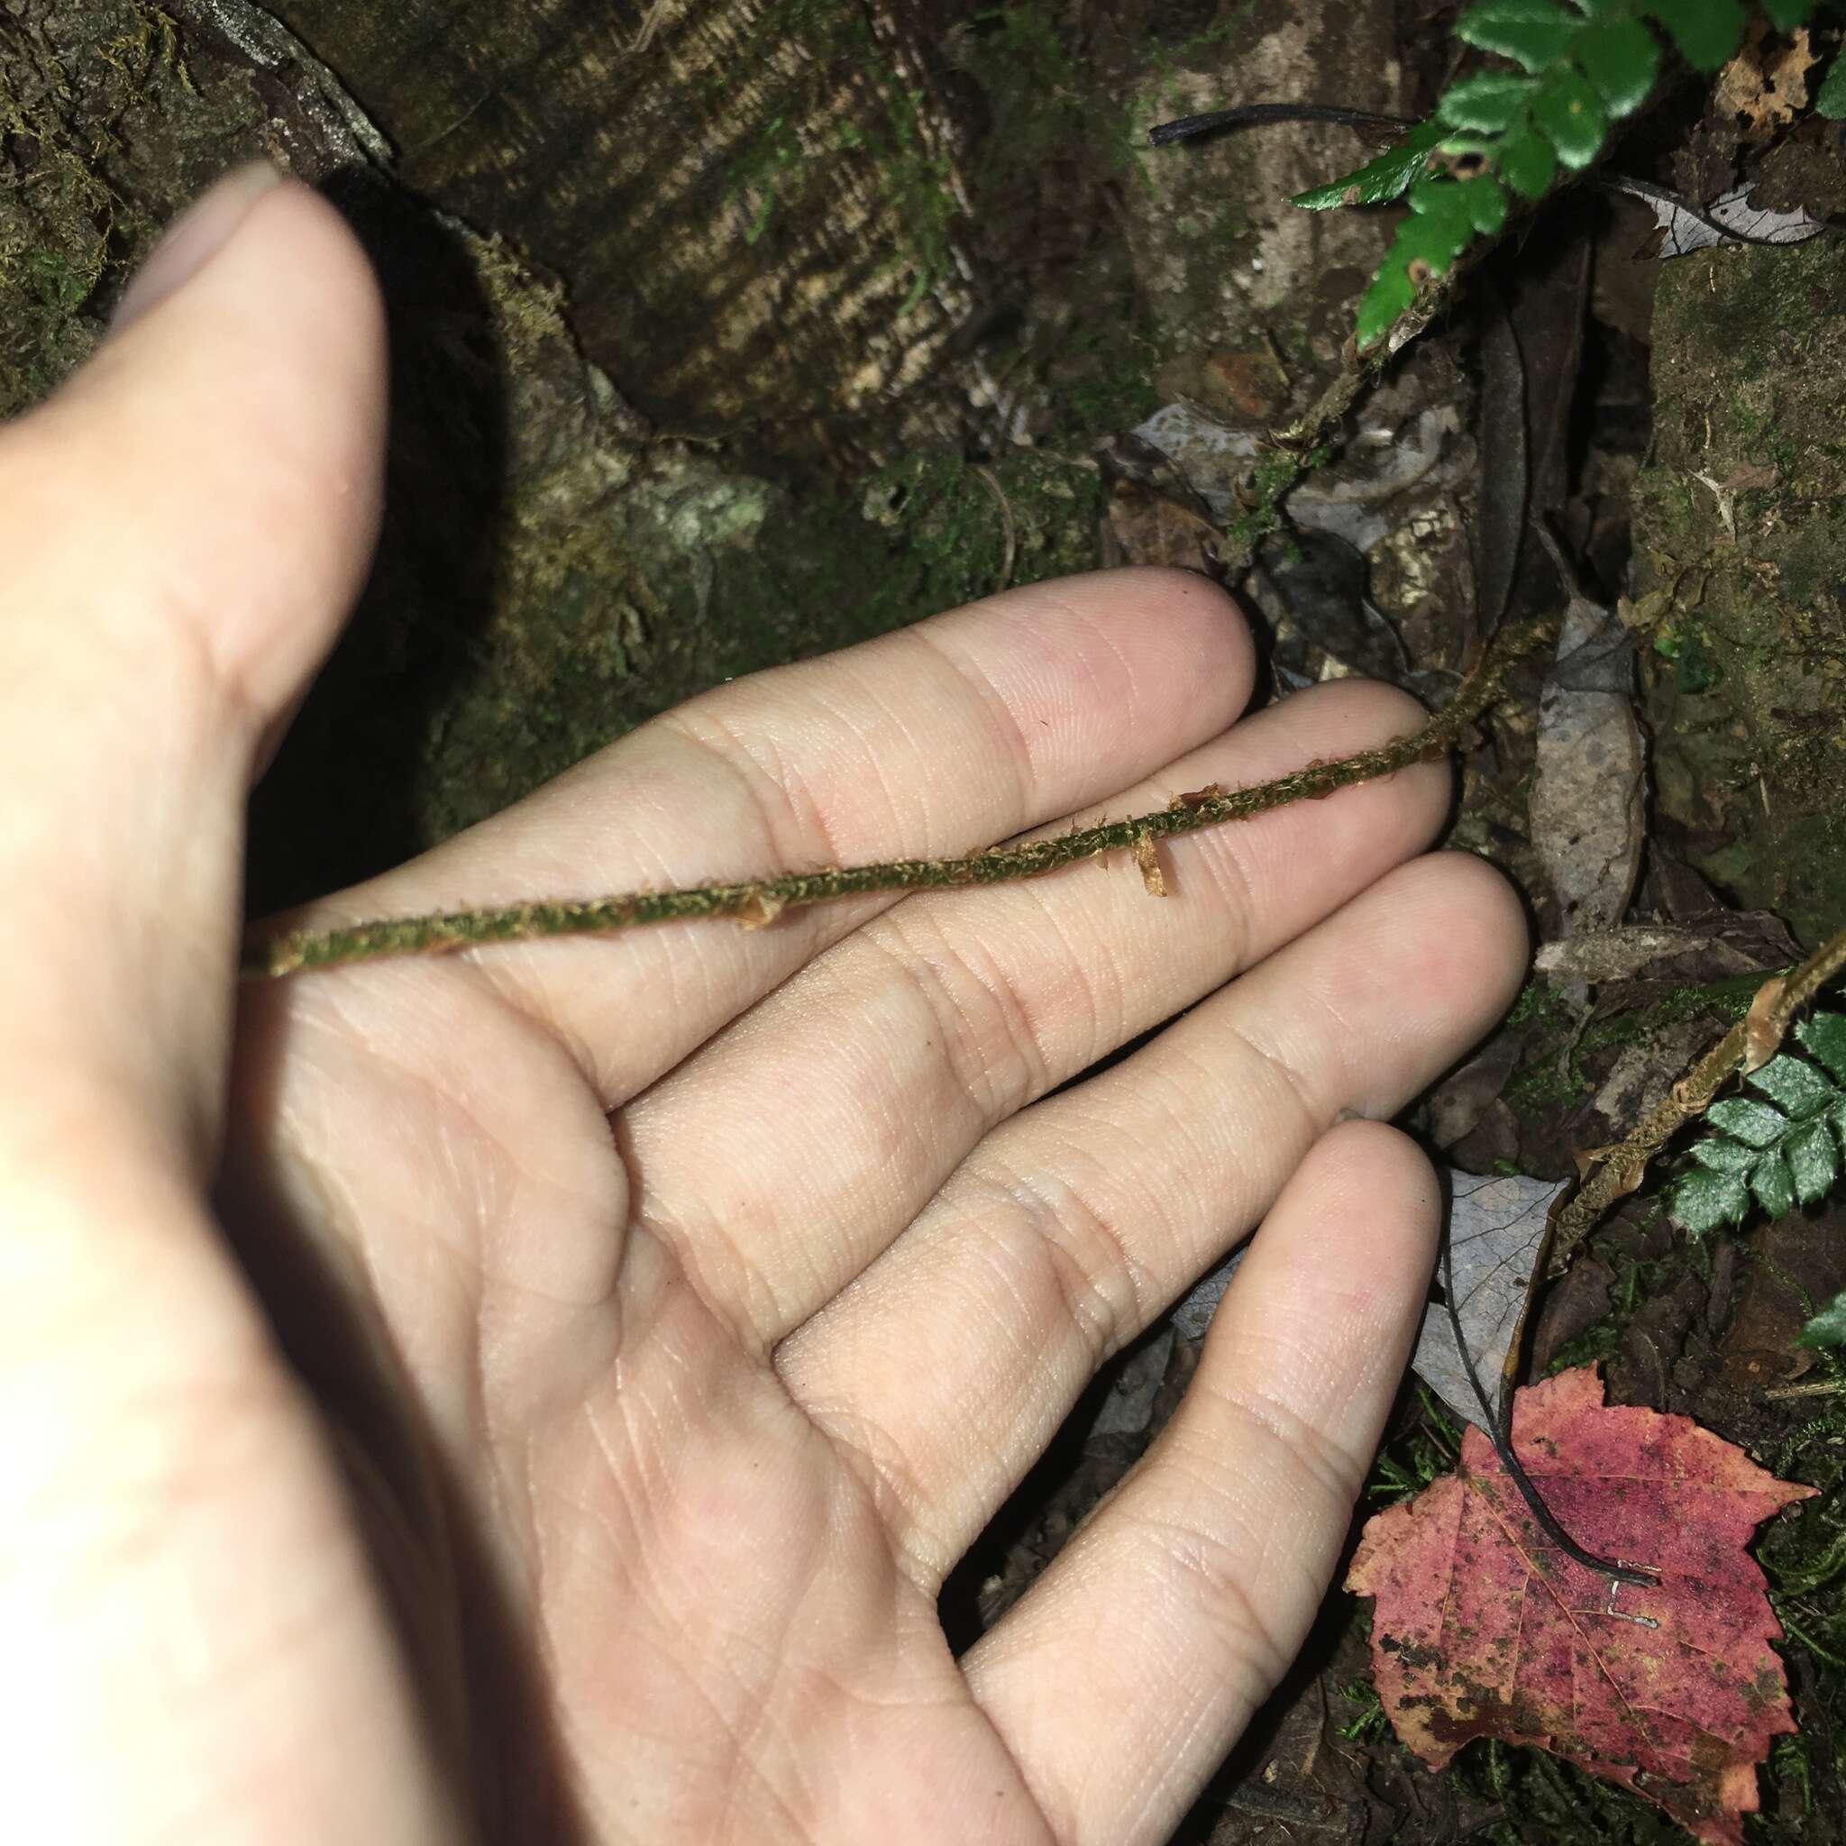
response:
<path id="1" fill-rule="evenodd" d="M 1202 576 L 1034 583 L 718 687 L 290 921 L 960 855 L 1132 786 L 1222 731 L 1250 683 L 1248 626 Z M 569 1043 L 615 1108 L 897 901 L 764 930 L 700 919 L 497 947 L 476 971 Z"/>

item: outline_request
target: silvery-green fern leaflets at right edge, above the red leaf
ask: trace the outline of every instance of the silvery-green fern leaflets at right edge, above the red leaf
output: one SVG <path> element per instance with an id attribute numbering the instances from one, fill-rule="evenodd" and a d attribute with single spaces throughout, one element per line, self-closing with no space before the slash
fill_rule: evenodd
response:
<path id="1" fill-rule="evenodd" d="M 1672 1220 L 1695 1237 L 1739 1224 L 1752 1202 L 1780 1218 L 1811 1205 L 1840 1172 L 1846 1145 L 1846 1013 L 1815 1013 L 1794 1028 L 1805 1058 L 1783 1052 L 1744 1082 L 1759 1097 L 1706 1109 L 1693 1170 L 1672 1187 Z M 1767 1100 L 1763 1100 L 1767 1098 Z"/>

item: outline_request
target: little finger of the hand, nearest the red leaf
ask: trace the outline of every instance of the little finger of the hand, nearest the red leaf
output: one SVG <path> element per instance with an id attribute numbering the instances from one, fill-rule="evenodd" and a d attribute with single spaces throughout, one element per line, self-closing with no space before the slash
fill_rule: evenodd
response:
<path id="1" fill-rule="evenodd" d="M 1324 1135 L 1178 1414 L 964 1660 L 1056 1839 L 1167 1839 L 1289 1669 L 1403 1375 L 1434 1231 L 1429 1161 L 1403 1135 Z"/>

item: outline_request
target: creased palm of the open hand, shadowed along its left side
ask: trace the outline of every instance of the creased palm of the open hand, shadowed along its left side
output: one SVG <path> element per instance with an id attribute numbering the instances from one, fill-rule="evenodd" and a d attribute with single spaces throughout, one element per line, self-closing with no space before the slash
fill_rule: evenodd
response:
<path id="1" fill-rule="evenodd" d="M 386 1013 L 439 1008 L 447 1069 L 316 1034 L 279 1102 L 303 1085 L 336 1170 L 290 1185 L 292 1163 L 233 1159 L 233 1224 L 264 1226 L 294 1283 L 271 1300 L 310 1324 L 292 1355 L 369 1451 L 358 1479 L 390 1480 L 360 1504 L 399 1552 L 386 1580 L 425 1604 L 404 1626 L 439 1636 L 419 1674 L 460 1665 L 497 1715 L 485 1837 L 855 1839 L 971 1787 L 989 1837 L 1045 1837 L 864 1458 L 707 1305 L 677 1229 L 631 1217 L 593 1085 L 474 982 L 386 984 Z M 277 1036 L 319 999 L 282 997 Z M 462 1069 L 495 1073 L 517 1121 L 445 1087 Z M 342 1209 L 308 1224 L 290 1193 Z M 356 1300 L 340 1274 L 367 1277 Z"/>

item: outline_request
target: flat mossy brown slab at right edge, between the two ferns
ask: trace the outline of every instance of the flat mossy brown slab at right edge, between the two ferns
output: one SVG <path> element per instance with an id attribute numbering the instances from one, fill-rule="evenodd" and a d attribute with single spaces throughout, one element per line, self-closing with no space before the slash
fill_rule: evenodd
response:
<path id="1" fill-rule="evenodd" d="M 1846 923 L 1846 244 L 1665 266 L 1636 557 L 1669 840 L 1815 943 Z"/>

